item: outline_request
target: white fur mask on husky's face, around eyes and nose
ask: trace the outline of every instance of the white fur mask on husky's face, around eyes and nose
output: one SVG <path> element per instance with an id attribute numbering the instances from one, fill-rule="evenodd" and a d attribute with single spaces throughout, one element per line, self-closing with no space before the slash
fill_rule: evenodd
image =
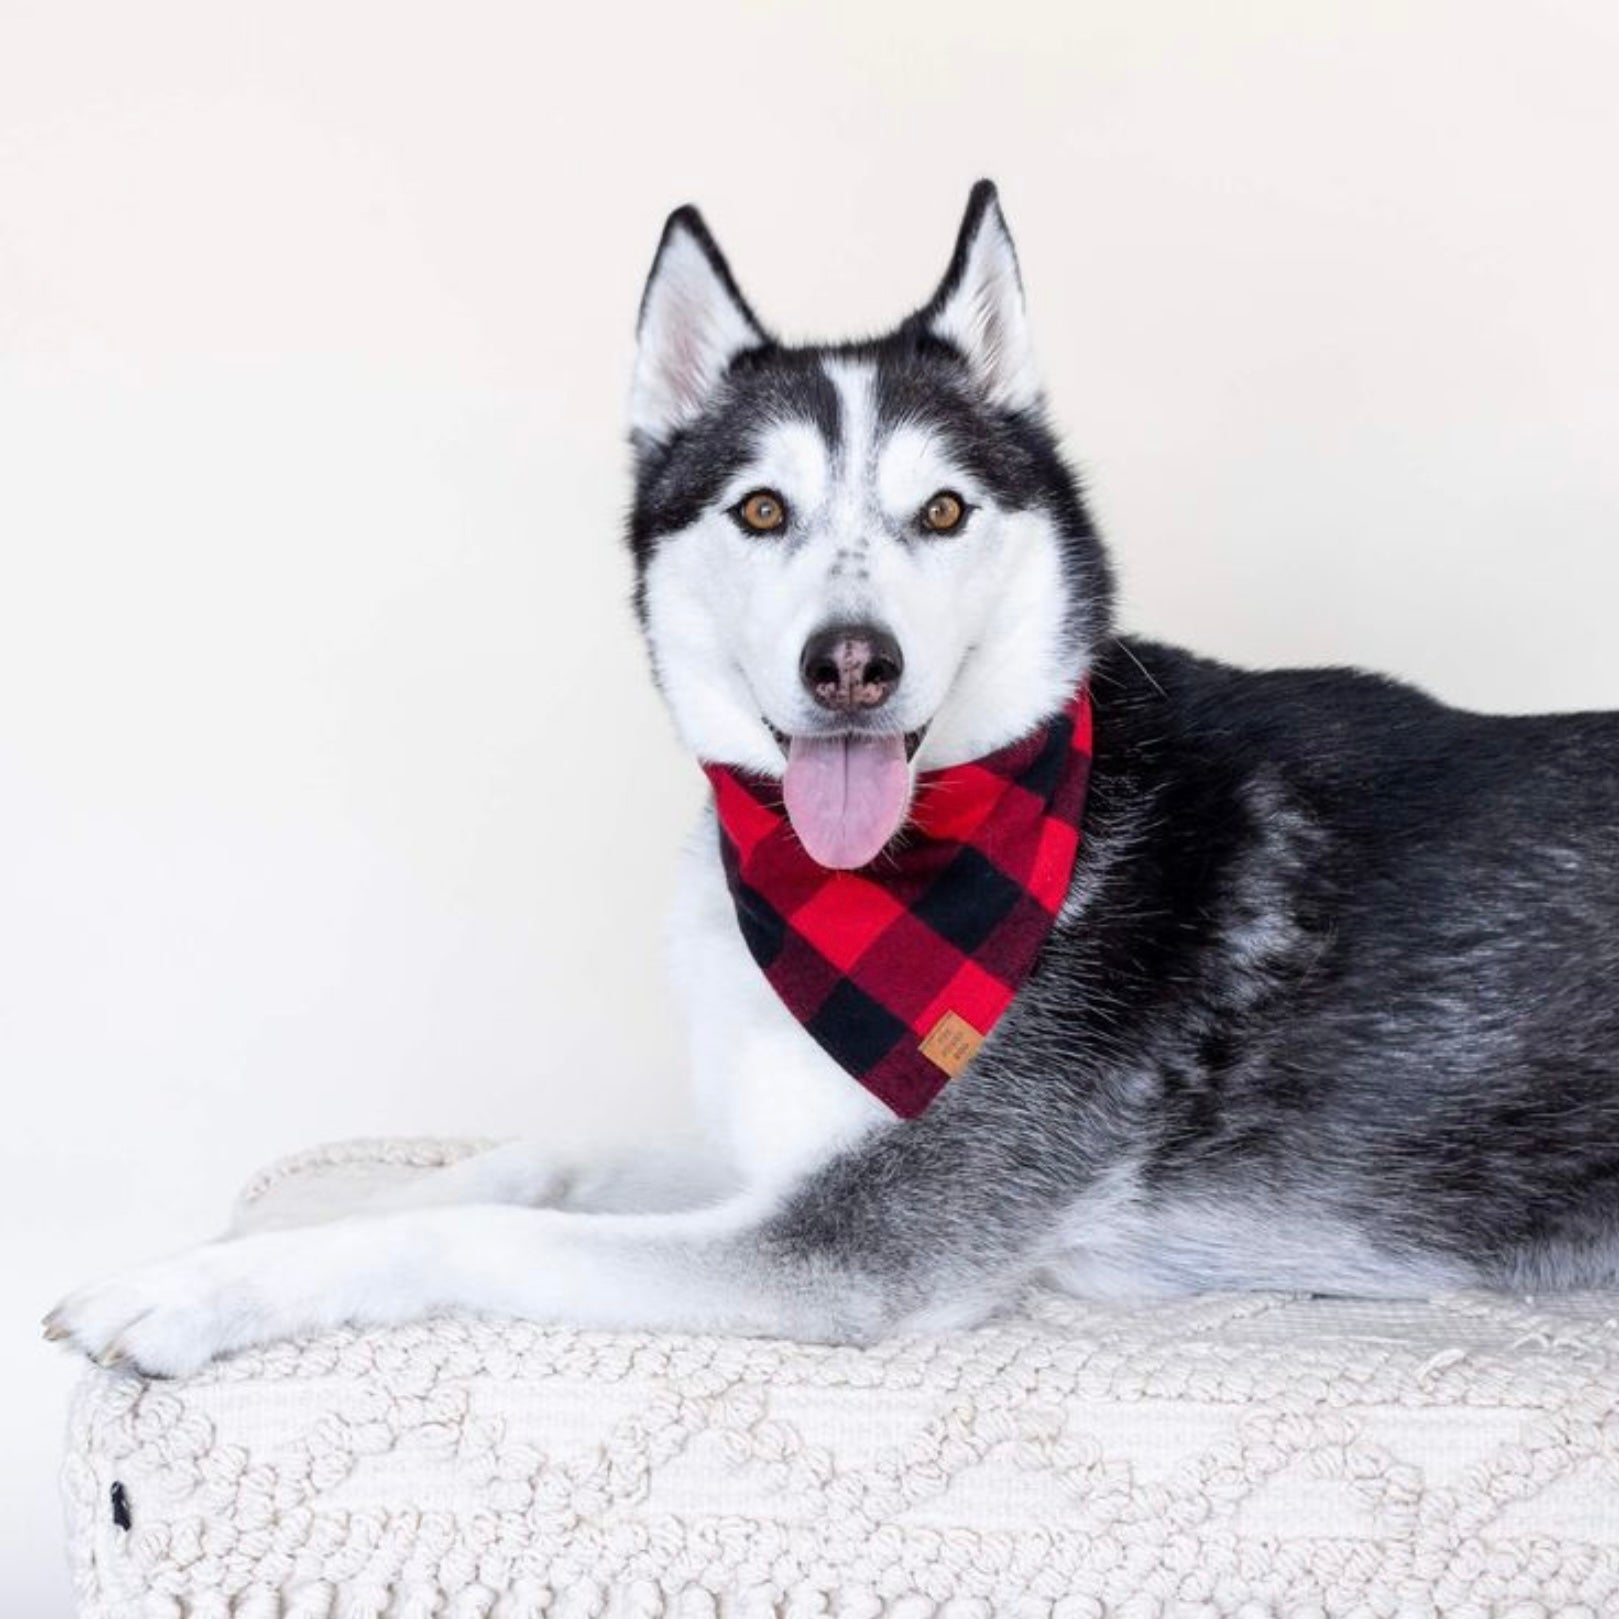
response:
<path id="1" fill-rule="evenodd" d="M 929 727 L 915 766 L 978 758 L 1070 691 L 1078 659 L 1057 536 L 1039 512 L 999 508 L 937 434 L 879 437 L 869 363 L 827 372 L 837 450 L 808 423 L 769 427 L 711 508 L 659 541 L 644 591 L 664 695 L 699 758 L 779 772 L 764 720 L 787 735 L 827 724 L 798 677 L 805 641 L 829 623 L 874 623 L 905 654 L 884 717 L 894 730 Z M 750 534 L 730 516 L 759 487 L 787 502 L 785 531 Z M 971 515 L 926 538 L 916 516 L 941 489 Z"/>

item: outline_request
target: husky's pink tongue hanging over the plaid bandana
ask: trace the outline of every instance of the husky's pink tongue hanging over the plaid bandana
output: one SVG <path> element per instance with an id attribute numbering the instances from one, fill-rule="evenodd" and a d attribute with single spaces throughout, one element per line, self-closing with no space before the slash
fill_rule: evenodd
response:
<path id="1" fill-rule="evenodd" d="M 905 738 L 793 737 L 782 797 L 811 860 L 840 871 L 865 866 L 905 819 Z"/>

